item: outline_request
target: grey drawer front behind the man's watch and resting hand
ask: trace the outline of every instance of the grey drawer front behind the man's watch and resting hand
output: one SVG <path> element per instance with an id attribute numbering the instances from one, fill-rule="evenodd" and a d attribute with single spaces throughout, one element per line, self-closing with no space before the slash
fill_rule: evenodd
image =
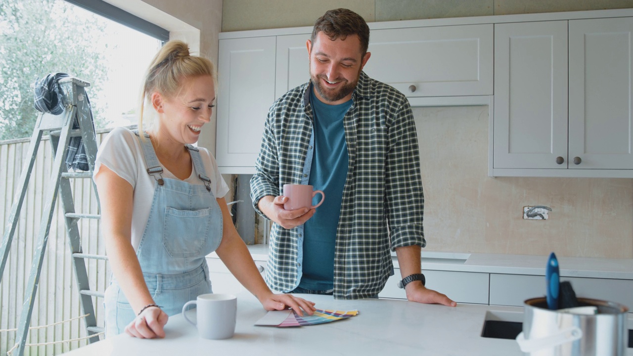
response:
<path id="1" fill-rule="evenodd" d="M 488 303 L 488 274 L 475 272 L 454 272 L 447 270 L 424 270 L 426 286 L 447 295 L 458 303 Z M 379 293 L 380 298 L 406 299 L 404 289 L 398 288 L 402 279 L 400 270 L 395 269 L 389 277 L 385 288 Z"/>

